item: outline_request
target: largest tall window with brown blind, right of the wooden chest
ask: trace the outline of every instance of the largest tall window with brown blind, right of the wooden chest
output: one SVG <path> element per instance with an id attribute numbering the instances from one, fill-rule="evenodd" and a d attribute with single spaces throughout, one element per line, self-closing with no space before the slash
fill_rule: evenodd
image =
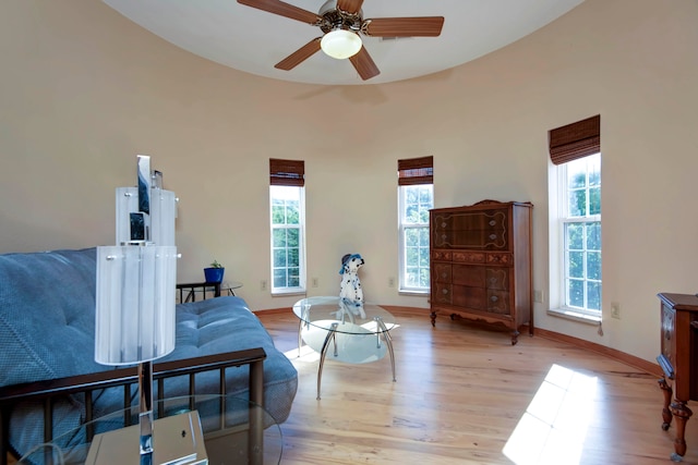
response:
<path id="1" fill-rule="evenodd" d="M 557 270 L 551 273 L 551 304 L 591 317 L 601 317 L 602 302 L 600 122 L 593 117 L 550 132 L 556 176 L 551 186 L 557 192 L 557 208 L 550 210 L 556 216 L 551 259 L 558 261 L 551 266 Z"/>

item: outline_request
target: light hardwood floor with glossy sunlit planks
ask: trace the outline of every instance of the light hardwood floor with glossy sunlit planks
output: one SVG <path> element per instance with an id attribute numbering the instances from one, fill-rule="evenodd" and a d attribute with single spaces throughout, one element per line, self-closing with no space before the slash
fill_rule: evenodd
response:
<path id="1" fill-rule="evenodd" d="M 298 320 L 257 313 L 298 369 L 281 425 L 282 464 L 670 464 L 674 425 L 661 429 L 657 377 L 541 336 L 390 310 L 397 382 L 386 357 L 365 365 L 298 357 Z M 685 464 L 698 464 L 698 415 Z"/>

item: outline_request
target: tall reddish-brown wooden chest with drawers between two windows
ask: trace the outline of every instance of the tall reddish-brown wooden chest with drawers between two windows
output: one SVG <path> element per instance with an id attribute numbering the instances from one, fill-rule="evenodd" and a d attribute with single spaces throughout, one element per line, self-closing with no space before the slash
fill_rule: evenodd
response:
<path id="1" fill-rule="evenodd" d="M 438 314 L 533 335 L 530 203 L 482 200 L 430 212 L 431 320 Z"/>

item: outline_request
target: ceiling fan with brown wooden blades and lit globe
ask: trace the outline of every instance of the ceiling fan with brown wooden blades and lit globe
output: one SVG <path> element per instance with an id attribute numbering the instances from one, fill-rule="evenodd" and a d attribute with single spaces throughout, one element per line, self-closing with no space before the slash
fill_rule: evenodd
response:
<path id="1" fill-rule="evenodd" d="M 328 0 L 318 13 L 285 3 L 280 0 L 238 0 L 291 20 L 318 26 L 324 33 L 274 65 L 289 71 L 318 50 L 336 59 L 349 59 L 363 81 L 381 74 L 378 66 L 361 42 L 361 35 L 371 37 L 437 37 L 444 16 L 363 19 L 363 0 Z"/>

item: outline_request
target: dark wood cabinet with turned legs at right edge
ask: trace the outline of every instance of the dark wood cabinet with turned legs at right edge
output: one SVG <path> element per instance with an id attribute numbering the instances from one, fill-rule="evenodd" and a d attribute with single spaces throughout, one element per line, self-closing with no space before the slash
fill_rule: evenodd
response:
<path id="1" fill-rule="evenodd" d="M 678 462 L 686 454 L 686 421 L 693 415 L 687 403 L 698 400 L 698 296 L 661 293 L 658 297 L 661 301 L 662 353 L 657 362 L 664 372 L 659 380 L 664 393 L 662 429 L 666 431 L 672 418 L 676 417 L 672 460 Z M 673 392 L 666 379 L 673 381 Z"/>

